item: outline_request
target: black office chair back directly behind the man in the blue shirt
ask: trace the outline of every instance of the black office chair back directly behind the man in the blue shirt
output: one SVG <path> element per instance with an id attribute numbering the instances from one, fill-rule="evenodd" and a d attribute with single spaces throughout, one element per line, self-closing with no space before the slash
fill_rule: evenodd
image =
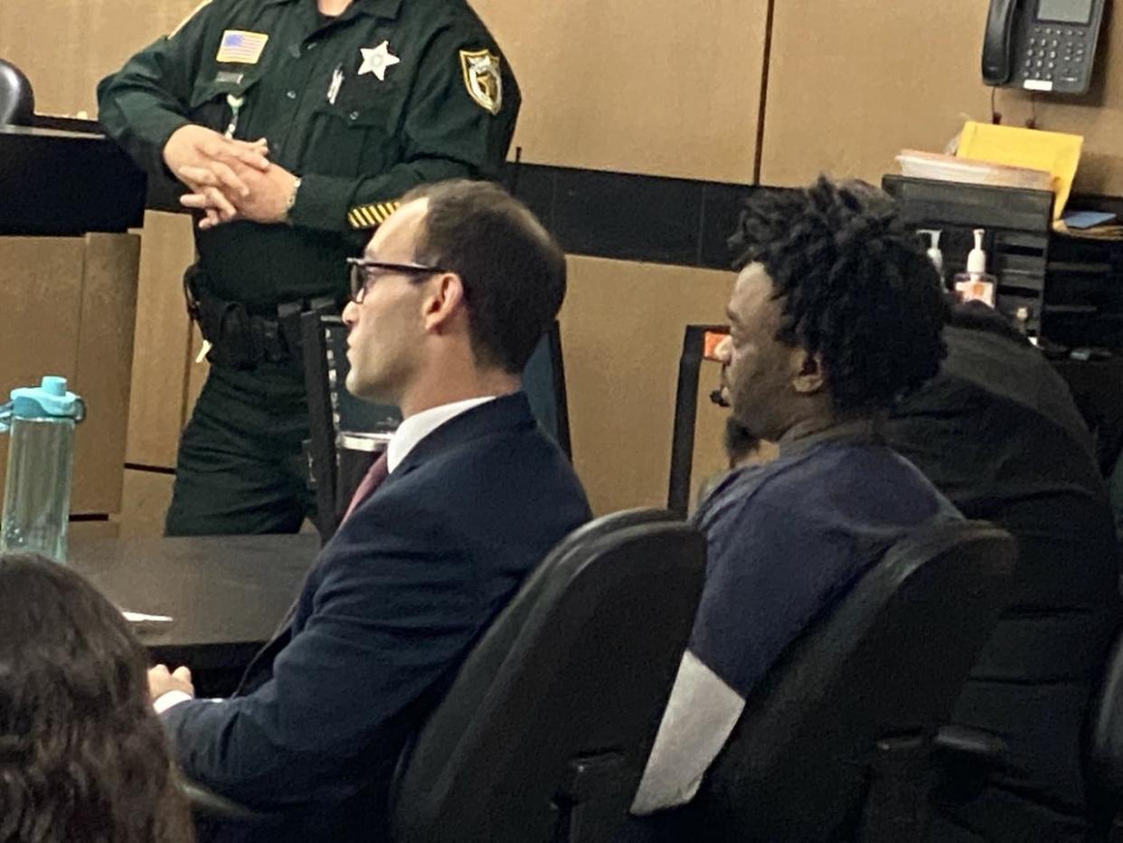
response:
<path id="1" fill-rule="evenodd" d="M 893 546 L 750 695 L 691 808 L 700 839 L 852 841 L 865 808 L 880 827 L 861 840 L 919 840 L 893 830 L 901 806 L 885 800 L 912 787 L 923 801 L 931 738 L 994 627 L 1015 554 L 982 522 Z M 923 814 L 911 809 L 909 822 Z"/>

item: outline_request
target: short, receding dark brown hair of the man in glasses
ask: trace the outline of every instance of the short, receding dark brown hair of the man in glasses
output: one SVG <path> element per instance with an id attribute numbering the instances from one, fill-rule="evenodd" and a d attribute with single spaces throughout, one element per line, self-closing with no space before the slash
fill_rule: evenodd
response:
<path id="1" fill-rule="evenodd" d="M 476 360 L 521 372 L 562 307 L 565 254 L 533 214 L 503 188 L 463 179 L 423 184 L 428 199 L 417 260 L 464 282 Z"/>

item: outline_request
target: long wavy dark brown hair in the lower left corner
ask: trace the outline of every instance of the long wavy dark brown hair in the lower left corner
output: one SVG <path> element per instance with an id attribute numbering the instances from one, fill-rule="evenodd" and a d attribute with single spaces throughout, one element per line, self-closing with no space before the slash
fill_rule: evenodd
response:
<path id="1" fill-rule="evenodd" d="M 0 556 L 0 843 L 185 843 L 147 659 L 82 577 Z"/>

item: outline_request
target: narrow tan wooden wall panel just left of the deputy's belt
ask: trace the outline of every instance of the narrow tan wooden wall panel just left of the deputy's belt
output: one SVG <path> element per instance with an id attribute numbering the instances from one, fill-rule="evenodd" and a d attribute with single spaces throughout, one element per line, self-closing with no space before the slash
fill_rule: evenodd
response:
<path id="1" fill-rule="evenodd" d="M 191 218 L 145 215 L 137 294 L 128 462 L 172 468 L 184 419 L 190 326 L 183 270 L 194 260 Z"/>

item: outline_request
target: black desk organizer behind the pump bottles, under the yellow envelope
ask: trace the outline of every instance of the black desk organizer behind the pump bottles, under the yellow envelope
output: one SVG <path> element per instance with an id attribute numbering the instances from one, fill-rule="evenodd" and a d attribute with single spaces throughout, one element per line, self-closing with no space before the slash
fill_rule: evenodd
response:
<path id="1" fill-rule="evenodd" d="M 1050 191 L 903 175 L 884 176 L 882 187 L 900 202 L 905 225 L 942 232 L 940 251 L 949 283 L 957 272 L 966 269 L 974 229 L 985 228 L 987 270 L 998 280 L 995 303 L 1011 318 L 1025 308 L 1028 332 L 1048 335 L 1046 275 L 1053 199 Z"/>

